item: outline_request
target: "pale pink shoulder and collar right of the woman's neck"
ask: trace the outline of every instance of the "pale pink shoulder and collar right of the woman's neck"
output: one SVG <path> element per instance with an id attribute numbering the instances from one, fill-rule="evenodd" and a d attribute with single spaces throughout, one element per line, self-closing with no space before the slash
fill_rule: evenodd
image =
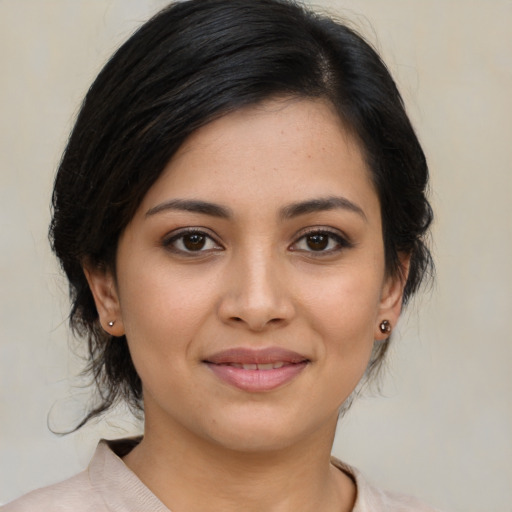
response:
<path id="1" fill-rule="evenodd" d="M 378 489 L 357 469 L 335 458 L 332 462 L 356 483 L 357 498 L 352 512 L 440 512 L 412 496 Z"/>

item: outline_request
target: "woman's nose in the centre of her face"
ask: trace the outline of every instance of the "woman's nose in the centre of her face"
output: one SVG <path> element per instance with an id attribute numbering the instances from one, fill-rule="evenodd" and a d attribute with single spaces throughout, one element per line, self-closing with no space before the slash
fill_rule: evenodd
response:
<path id="1" fill-rule="evenodd" d="M 290 283 L 275 257 L 240 257 L 230 262 L 226 273 L 218 308 L 223 322 L 258 332 L 286 325 L 293 318 Z"/>

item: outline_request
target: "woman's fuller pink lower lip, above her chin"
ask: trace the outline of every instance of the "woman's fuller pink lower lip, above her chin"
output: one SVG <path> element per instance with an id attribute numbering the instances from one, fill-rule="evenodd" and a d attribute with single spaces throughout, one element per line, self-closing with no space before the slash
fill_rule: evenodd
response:
<path id="1" fill-rule="evenodd" d="M 261 393 L 290 382 L 306 368 L 307 362 L 289 364 L 272 370 L 244 370 L 229 365 L 207 364 L 212 372 L 224 382 L 243 391 Z"/>

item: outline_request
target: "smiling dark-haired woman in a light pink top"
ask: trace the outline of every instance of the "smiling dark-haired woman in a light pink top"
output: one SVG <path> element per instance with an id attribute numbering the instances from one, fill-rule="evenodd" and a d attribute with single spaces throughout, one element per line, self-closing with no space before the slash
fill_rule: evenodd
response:
<path id="1" fill-rule="evenodd" d="M 283 0 L 170 5 L 88 92 L 51 239 L 99 402 L 141 439 L 18 510 L 432 510 L 331 459 L 430 268 L 428 171 L 374 50 Z M 82 424 L 83 424 L 82 423 Z"/>

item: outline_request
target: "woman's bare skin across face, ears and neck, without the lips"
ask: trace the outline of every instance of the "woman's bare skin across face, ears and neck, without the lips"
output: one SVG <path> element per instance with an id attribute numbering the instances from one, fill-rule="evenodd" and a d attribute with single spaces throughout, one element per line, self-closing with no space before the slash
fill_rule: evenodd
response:
<path id="1" fill-rule="evenodd" d="M 333 109 L 274 100 L 199 129 L 145 196 L 116 264 L 116 276 L 85 272 L 143 383 L 145 435 L 125 462 L 161 501 L 187 512 L 351 510 L 354 484 L 329 461 L 338 412 L 384 339 L 379 323 L 396 325 L 403 286 L 386 274 L 378 197 Z M 307 363 L 250 392 L 205 363 L 234 347 Z"/>

